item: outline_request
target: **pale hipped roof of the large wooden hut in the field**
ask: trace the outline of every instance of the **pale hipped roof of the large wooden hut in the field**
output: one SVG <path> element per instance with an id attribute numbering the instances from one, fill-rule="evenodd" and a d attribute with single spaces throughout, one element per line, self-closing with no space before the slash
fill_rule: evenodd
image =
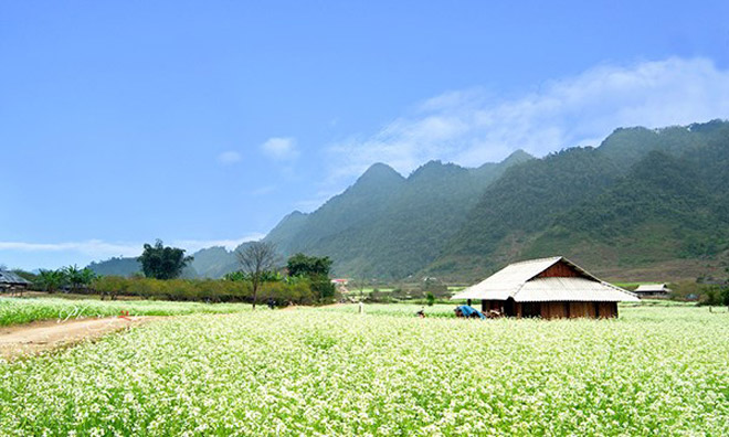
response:
<path id="1" fill-rule="evenodd" d="M 580 277 L 547 277 L 539 274 L 557 263 L 564 263 Z M 637 301 L 627 290 L 598 279 L 562 256 L 510 264 L 485 280 L 456 294 L 451 299 L 539 301 Z"/>

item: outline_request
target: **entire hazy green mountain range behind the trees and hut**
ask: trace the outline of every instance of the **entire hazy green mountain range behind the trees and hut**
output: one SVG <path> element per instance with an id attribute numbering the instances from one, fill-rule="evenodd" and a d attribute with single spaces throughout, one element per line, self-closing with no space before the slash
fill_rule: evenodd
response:
<path id="1" fill-rule="evenodd" d="M 611 279 L 721 275 L 729 265 L 729 122 L 621 128 L 599 147 L 537 159 L 517 150 L 468 169 L 383 163 L 264 238 L 282 256 L 327 255 L 334 273 L 469 283 L 529 257 L 564 255 Z M 196 254 L 187 276 L 220 277 L 234 254 Z M 108 273 L 123 259 L 95 263 Z M 126 262 L 128 273 L 129 263 Z"/>

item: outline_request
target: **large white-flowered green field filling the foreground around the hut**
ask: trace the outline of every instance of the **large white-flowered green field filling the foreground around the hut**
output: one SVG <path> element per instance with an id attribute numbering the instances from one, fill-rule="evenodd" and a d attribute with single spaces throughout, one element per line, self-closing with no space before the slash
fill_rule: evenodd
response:
<path id="1" fill-rule="evenodd" d="M 172 318 L 0 361 L 2 435 L 729 435 L 729 315 Z"/>

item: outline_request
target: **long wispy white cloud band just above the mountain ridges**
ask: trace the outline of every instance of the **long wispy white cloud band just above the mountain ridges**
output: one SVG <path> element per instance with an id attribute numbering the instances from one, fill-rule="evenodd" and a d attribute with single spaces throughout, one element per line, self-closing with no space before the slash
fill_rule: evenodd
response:
<path id="1" fill-rule="evenodd" d="M 601 65 L 499 99 L 483 89 L 445 93 L 371 136 L 332 145 L 332 182 L 373 162 L 408 173 L 431 159 L 479 166 L 521 148 L 533 154 L 598 146 L 617 127 L 649 128 L 729 117 L 729 71 L 705 58 Z"/>

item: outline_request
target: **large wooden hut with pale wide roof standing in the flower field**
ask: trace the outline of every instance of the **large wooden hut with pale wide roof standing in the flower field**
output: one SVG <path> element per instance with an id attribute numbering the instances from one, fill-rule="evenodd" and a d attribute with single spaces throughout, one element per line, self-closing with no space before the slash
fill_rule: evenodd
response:
<path id="1" fill-rule="evenodd" d="M 511 264 L 451 299 L 480 300 L 483 312 L 543 319 L 613 318 L 617 302 L 638 300 L 562 256 Z"/>

